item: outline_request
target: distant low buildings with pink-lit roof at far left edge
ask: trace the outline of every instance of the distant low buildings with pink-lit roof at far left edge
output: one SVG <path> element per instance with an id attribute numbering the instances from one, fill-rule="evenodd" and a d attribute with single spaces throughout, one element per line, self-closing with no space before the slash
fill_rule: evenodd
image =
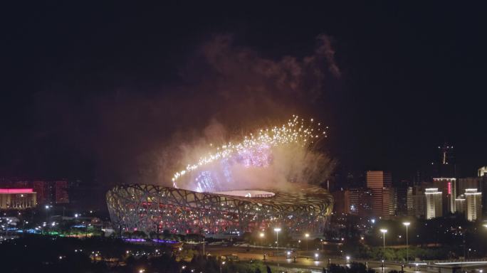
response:
<path id="1" fill-rule="evenodd" d="M 0 181 L 0 210 L 69 203 L 68 181 Z"/>

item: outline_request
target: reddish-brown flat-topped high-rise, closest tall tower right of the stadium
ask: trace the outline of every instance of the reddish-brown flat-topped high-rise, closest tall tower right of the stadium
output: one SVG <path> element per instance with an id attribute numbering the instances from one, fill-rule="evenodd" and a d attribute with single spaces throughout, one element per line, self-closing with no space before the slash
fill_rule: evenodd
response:
<path id="1" fill-rule="evenodd" d="M 379 217 L 394 215 L 392 175 L 388 171 L 367 171 L 367 188 L 372 191 L 372 213 Z"/>

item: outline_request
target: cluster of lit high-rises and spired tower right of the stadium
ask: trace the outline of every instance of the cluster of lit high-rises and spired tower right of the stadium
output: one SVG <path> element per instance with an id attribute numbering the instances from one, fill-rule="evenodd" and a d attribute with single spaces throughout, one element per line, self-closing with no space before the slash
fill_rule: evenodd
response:
<path id="1" fill-rule="evenodd" d="M 456 177 L 453 146 L 439 146 L 433 178 L 427 181 L 400 181 L 393 186 L 389 171 L 367 171 L 365 186 L 332 191 L 334 213 L 394 218 L 414 216 L 437 218 L 461 213 L 469 221 L 487 216 L 487 166 L 476 177 Z M 484 197 L 484 198 L 483 198 Z"/>

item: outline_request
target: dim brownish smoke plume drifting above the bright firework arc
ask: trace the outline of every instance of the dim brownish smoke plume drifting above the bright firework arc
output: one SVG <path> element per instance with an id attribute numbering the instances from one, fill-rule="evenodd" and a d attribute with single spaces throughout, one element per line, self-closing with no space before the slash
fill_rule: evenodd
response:
<path id="1" fill-rule="evenodd" d="M 171 80 L 157 85 L 147 87 L 136 79 L 127 85 L 118 75 L 90 92 L 80 87 L 78 93 L 66 95 L 66 86 L 53 85 L 34 97 L 36 134 L 23 149 L 30 154 L 47 142 L 51 148 L 31 160 L 49 164 L 52 158 L 65 158 L 61 165 L 41 168 L 56 173 L 91 170 L 98 181 L 109 184 L 169 186 L 174 171 L 197 161 L 209 144 L 239 139 L 271 122 L 286 121 L 291 114 L 310 117 L 319 109 L 317 101 L 323 99 L 328 80 L 339 77 L 340 70 L 330 38 L 320 35 L 315 43 L 310 54 L 271 58 L 240 45 L 231 35 L 216 35 L 179 60 Z M 282 151 L 286 152 L 291 151 Z M 73 154 L 80 158 L 70 159 Z M 309 162 L 300 163 L 300 168 L 309 171 L 300 173 L 330 164 L 324 154 L 317 156 L 303 157 Z M 26 164 L 15 158 L 11 162 Z"/>

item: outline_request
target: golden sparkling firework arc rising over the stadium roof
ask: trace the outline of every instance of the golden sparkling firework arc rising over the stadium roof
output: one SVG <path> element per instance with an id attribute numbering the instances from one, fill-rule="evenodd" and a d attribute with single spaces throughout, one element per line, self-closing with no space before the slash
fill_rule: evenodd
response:
<path id="1" fill-rule="evenodd" d="M 245 167 L 266 167 L 271 164 L 272 147 L 298 144 L 305 149 L 311 149 L 311 146 L 322 137 L 326 137 L 326 132 L 320 128 L 320 123 L 315 124 L 313 119 L 307 121 L 293 115 L 293 118 L 281 127 L 260 129 L 256 134 L 244 137 L 239 143 L 229 142 L 216 148 L 216 151 L 201 156 L 196 164 L 189 164 L 184 170 L 174 173 L 172 183 L 174 188 L 178 188 L 177 181 L 187 173 L 204 169 L 218 161 L 225 165 L 229 159 L 234 159 Z M 228 166 L 224 166 L 225 169 L 228 170 Z M 210 176 L 208 171 L 203 171 L 197 176 L 197 191 L 214 188 L 215 181 L 211 181 Z M 226 176 L 228 181 L 229 174 L 226 173 Z"/>

